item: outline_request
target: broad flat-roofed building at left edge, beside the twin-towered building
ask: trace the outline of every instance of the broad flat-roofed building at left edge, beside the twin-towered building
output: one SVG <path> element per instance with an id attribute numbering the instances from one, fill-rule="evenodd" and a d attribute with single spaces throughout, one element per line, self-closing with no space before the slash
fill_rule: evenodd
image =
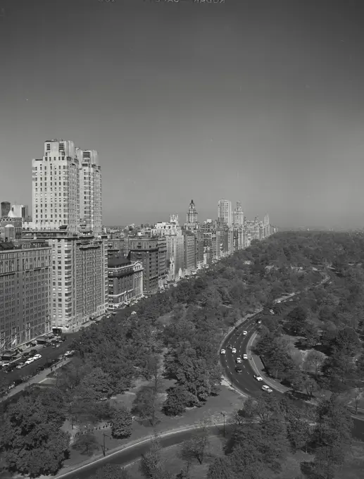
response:
<path id="1" fill-rule="evenodd" d="M 51 248 L 0 243 L 0 351 L 51 331 Z"/>

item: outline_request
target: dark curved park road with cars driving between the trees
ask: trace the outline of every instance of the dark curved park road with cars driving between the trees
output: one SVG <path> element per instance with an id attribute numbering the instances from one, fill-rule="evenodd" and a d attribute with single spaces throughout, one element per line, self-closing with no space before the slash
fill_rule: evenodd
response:
<path id="1" fill-rule="evenodd" d="M 320 284 L 327 285 L 330 277 L 323 280 Z M 295 297 L 299 296 L 298 294 L 294 295 Z M 276 300 L 275 302 L 277 302 Z M 287 298 L 282 299 L 282 303 L 286 302 Z M 262 312 L 256 313 L 254 316 L 251 316 L 249 320 L 245 321 L 237 328 L 235 328 L 230 335 L 226 337 L 224 342 L 222 342 L 221 349 L 225 349 L 226 354 L 220 354 L 220 362 L 222 368 L 225 370 L 225 377 L 230 381 L 237 390 L 245 394 L 246 396 L 258 397 L 263 394 L 262 385 L 268 384 L 267 382 L 260 381 L 258 382 L 254 379 L 256 374 L 253 371 L 251 362 L 249 360 L 243 360 L 241 364 L 235 363 L 237 356 L 243 357 L 243 354 L 250 354 L 248 350 L 248 343 L 251 339 L 251 336 L 256 331 L 256 321 L 261 318 Z M 247 331 L 247 335 L 244 335 L 243 331 Z M 231 349 L 228 349 L 228 345 L 231 344 L 232 347 L 237 349 L 236 354 L 232 354 Z M 249 356 L 249 359 L 250 356 Z M 237 373 L 235 368 L 239 366 L 242 369 L 241 373 Z M 273 389 L 273 388 L 272 388 Z M 272 394 L 282 394 L 278 390 L 274 390 Z M 299 405 L 301 402 L 296 401 L 294 404 Z M 301 403 L 302 404 L 302 403 Z M 354 427 L 353 427 L 353 437 L 356 439 L 364 441 L 364 421 L 361 421 L 358 418 L 353 418 Z"/>

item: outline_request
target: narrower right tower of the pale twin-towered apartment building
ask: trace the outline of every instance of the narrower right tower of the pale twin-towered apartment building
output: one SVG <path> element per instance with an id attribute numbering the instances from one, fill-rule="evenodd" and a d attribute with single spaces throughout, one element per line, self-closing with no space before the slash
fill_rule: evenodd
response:
<path id="1" fill-rule="evenodd" d="M 80 158 L 80 225 L 99 236 L 102 233 L 101 167 L 96 150 L 78 151 Z"/>

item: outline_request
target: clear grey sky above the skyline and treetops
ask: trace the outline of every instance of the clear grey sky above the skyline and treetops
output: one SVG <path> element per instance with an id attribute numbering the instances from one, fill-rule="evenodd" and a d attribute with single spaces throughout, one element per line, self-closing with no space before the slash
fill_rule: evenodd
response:
<path id="1" fill-rule="evenodd" d="M 0 200 L 47 139 L 99 151 L 108 224 L 364 225 L 364 1 L 0 0 Z"/>

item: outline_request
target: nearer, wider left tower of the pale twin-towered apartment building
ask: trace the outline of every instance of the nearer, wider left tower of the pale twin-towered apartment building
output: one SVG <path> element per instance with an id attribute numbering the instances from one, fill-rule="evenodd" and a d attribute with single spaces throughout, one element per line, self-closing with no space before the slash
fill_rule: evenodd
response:
<path id="1" fill-rule="evenodd" d="M 32 207 L 34 230 L 80 229 L 80 162 L 73 142 L 46 141 L 43 158 L 32 160 Z"/>

